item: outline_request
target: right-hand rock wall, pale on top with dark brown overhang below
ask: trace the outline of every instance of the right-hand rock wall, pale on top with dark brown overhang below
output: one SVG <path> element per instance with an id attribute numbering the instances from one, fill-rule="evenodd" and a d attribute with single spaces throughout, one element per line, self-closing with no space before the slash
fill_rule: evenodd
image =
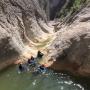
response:
<path id="1" fill-rule="evenodd" d="M 51 68 L 76 75 L 90 75 L 90 7 L 75 16 L 70 26 L 63 26 L 48 48 Z"/>

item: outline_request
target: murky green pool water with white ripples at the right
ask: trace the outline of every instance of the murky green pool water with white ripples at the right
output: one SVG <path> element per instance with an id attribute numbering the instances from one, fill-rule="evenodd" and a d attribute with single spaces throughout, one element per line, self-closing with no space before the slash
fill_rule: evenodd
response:
<path id="1" fill-rule="evenodd" d="M 31 72 L 18 74 L 17 67 L 0 72 L 0 90 L 84 90 L 63 73 L 35 75 Z"/>

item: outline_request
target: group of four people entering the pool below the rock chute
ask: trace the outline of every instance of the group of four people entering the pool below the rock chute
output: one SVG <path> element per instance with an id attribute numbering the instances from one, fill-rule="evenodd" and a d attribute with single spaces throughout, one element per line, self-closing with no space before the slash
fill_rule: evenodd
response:
<path id="1" fill-rule="evenodd" d="M 43 55 L 44 54 L 41 51 L 38 51 L 36 58 L 34 58 L 33 56 L 31 56 L 31 58 L 28 59 L 27 66 L 29 66 L 29 67 L 36 67 L 36 66 L 38 66 L 38 67 L 36 67 L 35 72 L 45 73 L 46 72 L 45 65 L 37 65 L 37 59 L 41 59 L 43 57 Z M 24 72 L 27 69 L 27 67 L 23 66 L 23 64 L 21 64 L 21 63 L 19 64 L 18 68 L 19 68 L 19 71 L 20 72 Z"/>

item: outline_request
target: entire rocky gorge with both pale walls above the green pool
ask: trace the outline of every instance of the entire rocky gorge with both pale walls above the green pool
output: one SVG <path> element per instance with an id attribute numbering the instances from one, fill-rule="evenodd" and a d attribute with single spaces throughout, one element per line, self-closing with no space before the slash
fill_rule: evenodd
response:
<path id="1" fill-rule="evenodd" d="M 1 0 L 0 69 L 38 50 L 55 70 L 90 75 L 88 0 Z"/>

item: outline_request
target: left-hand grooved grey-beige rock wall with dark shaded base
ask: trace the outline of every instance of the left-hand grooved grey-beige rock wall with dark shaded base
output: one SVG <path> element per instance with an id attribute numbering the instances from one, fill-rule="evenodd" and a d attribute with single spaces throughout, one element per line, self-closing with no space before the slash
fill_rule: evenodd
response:
<path id="1" fill-rule="evenodd" d="M 38 0 L 0 0 L 0 62 L 21 55 L 27 43 L 47 39 L 49 32 L 42 30 L 39 19 L 47 17 Z"/>

